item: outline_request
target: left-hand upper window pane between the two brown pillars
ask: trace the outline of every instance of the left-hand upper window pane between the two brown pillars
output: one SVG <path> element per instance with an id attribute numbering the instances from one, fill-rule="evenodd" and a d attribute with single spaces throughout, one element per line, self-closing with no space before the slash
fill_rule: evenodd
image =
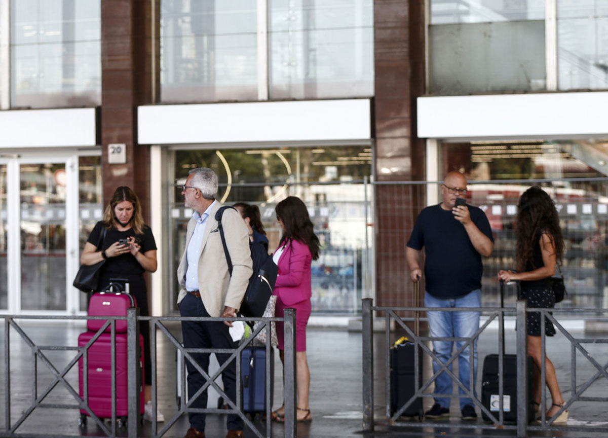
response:
<path id="1" fill-rule="evenodd" d="M 162 102 L 257 99 L 256 5 L 161 1 Z"/>

